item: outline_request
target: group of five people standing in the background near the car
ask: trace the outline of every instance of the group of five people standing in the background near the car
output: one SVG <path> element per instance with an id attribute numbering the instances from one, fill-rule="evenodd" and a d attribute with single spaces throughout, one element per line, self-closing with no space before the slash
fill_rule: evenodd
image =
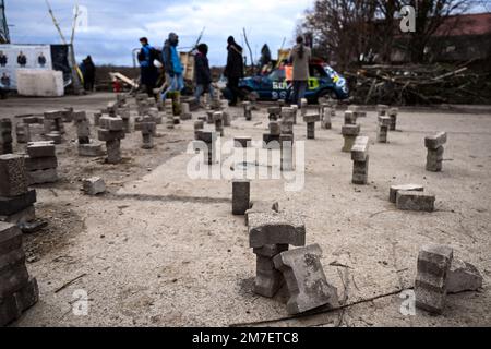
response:
<path id="1" fill-rule="evenodd" d="M 141 83 L 145 85 L 148 96 L 154 96 L 159 72 L 155 61 L 161 61 L 167 82 L 167 89 L 163 93 L 165 99 L 168 92 L 182 91 L 184 88 L 184 69 L 182 67 L 178 52 L 179 36 L 170 33 L 168 39 L 164 44 L 161 57 L 158 51 L 152 47 L 146 37 L 140 39 L 142 49 L 137 55 L 141 67 Z M 224 76 L 227 77 L 227 88 L 230 92 L 230 106 L 237 105 L 239 98 L 244 99 L 242 91 L 239 88 L 239 82 L 244 77 L 243 49 L 238 45 L 232 36 L 227 39 L 227 65 L 225 67 Z M 207 92 L 212 98 L 214 96 L 213 79 L 207 58 L 208 46 L 200 44 L 196 47 L 194 59 L 194 80 L 195 80 L 195 98 L 199 100 L 201 96 Z M 297 45 L 292 48 L 289 63 L 292 64 L 292 103 L 300 103 L 303 98 L 309 80 L 309 62 L 311 60 L 311 50 L 306 47 L 303 37 L 297 38 Z M 158 64 L 157 64 L 158 65 Z"/>

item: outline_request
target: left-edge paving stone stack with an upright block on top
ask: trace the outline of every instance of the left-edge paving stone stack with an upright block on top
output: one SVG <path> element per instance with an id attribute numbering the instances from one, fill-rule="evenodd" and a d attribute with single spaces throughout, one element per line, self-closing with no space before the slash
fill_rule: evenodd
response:
<path id="1" fill-rule="evenodd" d="M 0 220 L 16 225 L 35 220 L 35 202 L 36 191 L 28 189 L 24 156 L 0 155 Z"/>

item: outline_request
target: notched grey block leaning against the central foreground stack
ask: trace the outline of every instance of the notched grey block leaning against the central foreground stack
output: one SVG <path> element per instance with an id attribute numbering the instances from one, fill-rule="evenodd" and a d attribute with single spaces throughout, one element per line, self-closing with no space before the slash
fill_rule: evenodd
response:
<path id="1" fill-rule="evenodd" d="M 339 305 L 337 289 L 326 280 L 321 264 L 322 251 L 319 244 L 282 252 L 274 263 L 285 277 L 290 298 L 289 314 L 299 314 L 319 306 Z"/>

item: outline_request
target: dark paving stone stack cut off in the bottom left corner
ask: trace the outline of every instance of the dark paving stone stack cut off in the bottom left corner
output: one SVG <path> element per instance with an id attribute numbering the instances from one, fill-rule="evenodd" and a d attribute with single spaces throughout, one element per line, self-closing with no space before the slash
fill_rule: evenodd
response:
<path id="1" fill-rule="evenodd" d="M 38 299 L 36 278 L 25 266 L 22 232 L 15 225 L 0 221 L 0 326 L 20 318 Z"/>

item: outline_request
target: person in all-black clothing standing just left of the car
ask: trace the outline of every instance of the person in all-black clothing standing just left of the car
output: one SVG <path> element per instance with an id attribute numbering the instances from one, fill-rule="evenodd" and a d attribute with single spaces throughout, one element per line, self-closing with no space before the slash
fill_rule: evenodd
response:
<path id="1" fill-rule="evenodd" d="M 228 80 L 227 87 L 231 93 L 230 106 L 235 106 L 237 98 L 242 98 L 242 92 L 239 88 L 239 81 L 243 77 L 242 47 L 236 43 L 233 36 L 230 36 L 227 43 L 228 57 L 224 76 Z"/>

